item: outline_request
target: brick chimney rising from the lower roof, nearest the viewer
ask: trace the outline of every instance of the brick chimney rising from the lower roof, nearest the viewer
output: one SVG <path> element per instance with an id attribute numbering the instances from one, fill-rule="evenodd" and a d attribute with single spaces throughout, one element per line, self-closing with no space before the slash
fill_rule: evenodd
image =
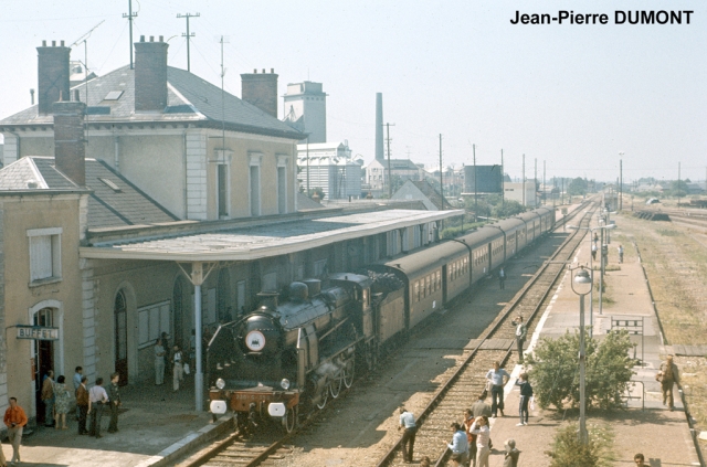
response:
<path id="1" fill-rule="evenodd" d="M 54 166 L 80 187 L 86 185 L 86 139 L 82 102 L 54 103 Z"/>

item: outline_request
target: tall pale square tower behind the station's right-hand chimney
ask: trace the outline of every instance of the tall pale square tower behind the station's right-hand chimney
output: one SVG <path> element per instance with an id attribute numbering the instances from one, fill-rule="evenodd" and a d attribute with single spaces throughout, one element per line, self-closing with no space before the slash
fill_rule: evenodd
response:
<path id="1" fill-rule="evenodd" d="M 321 83 L 305 81 L 287 85 L 285 123 L 309 134 L 309 142 L 327 140 L 327 95 Z"/>

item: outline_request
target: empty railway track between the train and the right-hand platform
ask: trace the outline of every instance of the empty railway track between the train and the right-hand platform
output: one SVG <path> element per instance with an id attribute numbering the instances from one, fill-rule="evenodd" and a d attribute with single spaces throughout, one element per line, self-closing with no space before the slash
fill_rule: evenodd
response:
<path id="1" fill-rule="evenodd" d="M 580 226 L 587 227 L 594 208 L 587 212 Z M 450 423 L 458 421 L 462 411 L 471 405 L 485 386 L 485 374 L 494 361 L 502 365 L 508 360 L 515 348 L 515 327 L 513 317 L 523 315 L 528 329 L 537 323 L 541 309 L 557 279 L 564 269 L 566 262 L 580 245 L 585 231 L 574 231 L 560 248 L 538 269 L 532 279 L 506 306 L 492 323 L 450 380 L 434 394 L 432 401 L 418 417 L 415 455 L 429 456 L 435 466 L 446 465 L 449 449 L 443 442 L 450 439 Z M 400 450 L 402 437 L 377 464 L 378 467 L 404 466 Z"/>

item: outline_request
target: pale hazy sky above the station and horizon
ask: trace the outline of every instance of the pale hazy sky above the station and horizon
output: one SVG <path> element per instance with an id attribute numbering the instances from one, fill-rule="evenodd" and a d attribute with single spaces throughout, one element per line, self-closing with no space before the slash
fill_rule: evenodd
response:
<path id="1" fill-rule="evenodd" d="M 88 36 L 98 75 L 129 63 L 129 0 L 2 1 L 0 119 L 30 106 L 42 40 Z M 605 13 L 609 24 L 511 24 L 516 11 Z M 614 12 L 692 10 L 690 24 L 615 24 Z M 439 167 L 500 162 L 538 178 L 615 181 L 707 176 L 707 2 L 133 0 L 134 42 L 169 41 L 169 65 L 240 96 L 241 73 L 275 68 L 327 93 L 327 139 L 374 157 L 376 93 L 383 94 L 391 155 Z M 84 61 L 84 43 L 72 49 Z M 283 118 L 282 98 L 279 118 Z M 623 152 L 623 155 L 620 155 Z"/>

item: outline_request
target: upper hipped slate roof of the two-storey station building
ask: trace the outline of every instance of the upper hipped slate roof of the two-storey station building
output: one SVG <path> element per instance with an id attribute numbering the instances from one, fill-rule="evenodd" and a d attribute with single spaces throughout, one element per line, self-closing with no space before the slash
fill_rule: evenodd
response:
<path id="1" fill-rule="evenodd" d="M 86 99 L 85 83 L 72 87 L 78 91 L 82 102 Z M 222 114 L 221 88 L 184 70 L 167 67 L 167 107 L 162 113 L 135 113 L 135 70 L 129 66 L 115 70 L 105 76 L 88 81 L 87 123 L 201 123 L 219 127 L 222 119 L 226 129 L 281 136 L 295 140 L 305 137 L 289 125 L 261 110 L 232 94 L 223 93 Z M 105 97 L 112 91 L 123 92 L 115 100 Z M 223 118 L 222 115 L 225 117 Z M 1 126 L 53 125 L 52 115 L 38 115 L 34 105 L 0 120 Z"/>

